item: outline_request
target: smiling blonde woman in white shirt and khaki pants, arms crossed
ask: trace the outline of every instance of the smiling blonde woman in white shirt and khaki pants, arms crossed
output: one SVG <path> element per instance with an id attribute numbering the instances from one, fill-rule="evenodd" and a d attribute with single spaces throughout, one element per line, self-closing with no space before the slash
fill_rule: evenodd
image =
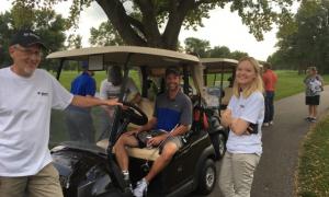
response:
<path id="1" fill-rule="evenodd" d="M 263 83 L 254 58 L 240 59 L 234 95 L 222 116 L 230 131 L 219 174 L 226 197 L 249 197 L 253 172 L 262 153 L 261 125 L 264 118 Z"/>

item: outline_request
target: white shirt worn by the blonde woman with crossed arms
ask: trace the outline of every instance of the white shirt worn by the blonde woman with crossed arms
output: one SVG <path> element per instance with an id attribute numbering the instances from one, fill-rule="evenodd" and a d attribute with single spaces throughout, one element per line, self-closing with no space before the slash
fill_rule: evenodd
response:
<path id="1" fill-rule="evenodd" d="M 230 153 L 262 153 L 262 131 L 261 126 L 264 119 L 264 96 L 261 92 L 253 92 L 249 97 L 243 99 L 231 96 L 227 106 L 231 109 L 234 118 L 241 118 L 246 121 L 258 124 L 257 135 L 238 136 L 231 130 L 226 143 Z"/>

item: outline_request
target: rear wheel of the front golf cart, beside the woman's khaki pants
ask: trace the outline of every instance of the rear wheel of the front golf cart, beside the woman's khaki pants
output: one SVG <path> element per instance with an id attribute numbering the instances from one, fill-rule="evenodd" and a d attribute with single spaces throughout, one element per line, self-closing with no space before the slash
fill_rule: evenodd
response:
<path id="1" fill-rule="evenodd" d="M 208 195 L 213 192 L 217 179 L 215 162 L 207 159 L 200 172 L 197 193 Z"/>

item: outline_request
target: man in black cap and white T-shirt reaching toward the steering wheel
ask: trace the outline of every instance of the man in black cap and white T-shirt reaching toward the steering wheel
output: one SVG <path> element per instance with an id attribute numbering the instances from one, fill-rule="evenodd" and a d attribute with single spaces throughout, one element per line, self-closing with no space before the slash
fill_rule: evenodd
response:
<path id="1" fill-rule="evenodd" d="M 48 149 L 52 108 L 122 105 L 69 93 L 37 69 L 42 48 L 37 34 L 19 31 L 9 45 L 13 63 L 0 69 L 0 196 L 63 197 Z"/>

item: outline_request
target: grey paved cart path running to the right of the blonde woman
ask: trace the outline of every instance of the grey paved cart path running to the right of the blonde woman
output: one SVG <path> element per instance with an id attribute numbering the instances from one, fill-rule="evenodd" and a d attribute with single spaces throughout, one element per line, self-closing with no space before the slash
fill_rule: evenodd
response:
<path id="1" fill-rule="evenodd" d="M 329 112 L 329 86 L 321 93 L 319 116 Z M 295 196 L 295 170 L 299 144 L 314 124 L 307 123 L 305 94 L 275 102 L 274 125 L 263 127 L 263 154 L 256 171 L 251 197 Z M 220 163 L 217 163 L 219 170 Z M 216 185 L 208 197 L 220 197 Z M 196 197 L 196 196 L 195 196 Z"/>

